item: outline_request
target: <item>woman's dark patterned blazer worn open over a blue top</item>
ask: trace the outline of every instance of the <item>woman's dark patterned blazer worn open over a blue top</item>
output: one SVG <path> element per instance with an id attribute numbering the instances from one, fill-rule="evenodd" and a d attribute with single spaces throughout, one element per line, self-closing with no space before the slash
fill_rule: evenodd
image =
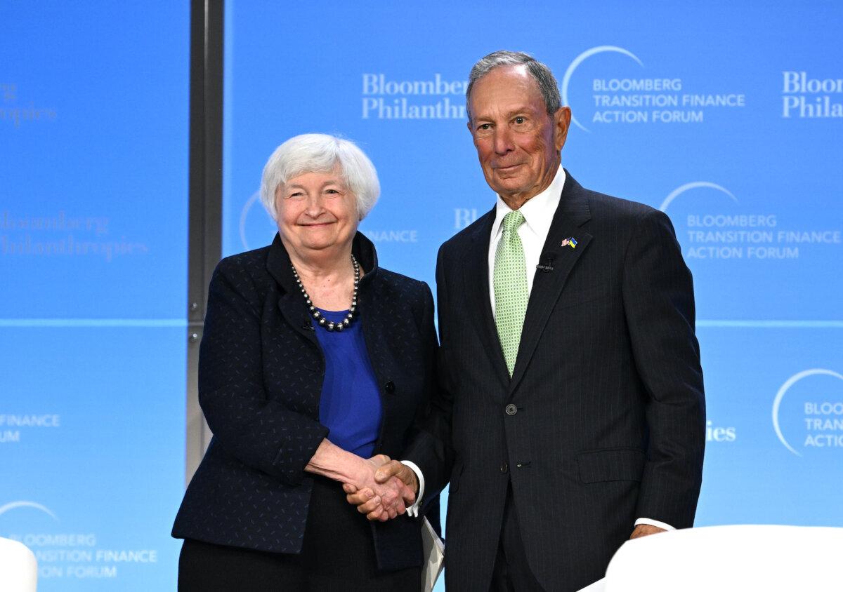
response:
<path id="1" fill-rule="evenodd" d="M 400 458 L 435 389 L 433 298 L 423 282 L 379 269 L 373 244 L 359 232 L 352 251 L 365 271 L 357 323 L 381 386 L 375 453 Z M 330 439 L 319 424 L 324 373 L 281 239 L 223 259 L 211 280 L 199 356 L 199 402 L 214 435 L 173 536 L 301 550 L 313 485 L 304 467 Z M 438 507 L 432 513 L 433 522 Z M 372 524 L 380 568 L 421 564 L 420 525 L 406 517 Z"/>

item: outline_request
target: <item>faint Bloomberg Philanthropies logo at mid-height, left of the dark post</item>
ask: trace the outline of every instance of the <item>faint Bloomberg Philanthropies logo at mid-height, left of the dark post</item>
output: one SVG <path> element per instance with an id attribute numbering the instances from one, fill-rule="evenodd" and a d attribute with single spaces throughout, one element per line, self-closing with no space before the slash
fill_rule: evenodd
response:
<path id="1" fill-rule="evenodd" d="M 0 255 L 4 257 L 91 257 L 111 262 L 148 253 L 146 243 L 111 232 L 105 216 L 28 215 L 0 211 Z"/>

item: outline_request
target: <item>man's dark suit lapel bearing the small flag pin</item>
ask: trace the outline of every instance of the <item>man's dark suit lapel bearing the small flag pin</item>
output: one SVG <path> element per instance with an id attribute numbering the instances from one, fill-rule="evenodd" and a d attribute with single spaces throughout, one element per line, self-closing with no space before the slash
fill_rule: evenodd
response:
<path id="1" fill-rule="evenodd" d="M 524 371 L 533 357 L 536 345 L 539 344 L 541 334 L 565 287 L 568 275 L 588 248 L 588 243 L 591 242 L 591 235 L 580 228 L 590 218 L 588 195 L 585 189 L 568 174 L 565 186 L 562 188 L 559 206 L 550 224 L 550 232 L 547 233 L 545 246 L 542 248 L 542 253 L 554 253 L 552 263 L 554 269 L 547 273 L 535 272 L 527 315 L 524 317 L 524 328 L 521 331 L 521 342 L 518 344 L 518 358 L 515 361 L 512 381 L 509 381 L 509 395 L 515 392 L 518 382 L 524 377 Z M 576 248 L 561 246 L 562 241 L 568 237 L 574 237 L 577 240 Z"/>

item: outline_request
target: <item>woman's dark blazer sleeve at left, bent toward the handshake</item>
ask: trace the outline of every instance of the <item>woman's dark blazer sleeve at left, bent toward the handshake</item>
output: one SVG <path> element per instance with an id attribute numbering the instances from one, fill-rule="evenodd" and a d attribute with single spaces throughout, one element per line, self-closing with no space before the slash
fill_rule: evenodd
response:
<path id="1" fill-rule="evenodd" d="M 329 430 L 266 397 L 260 311 L 255 281 L 232 259 L 223 259 L 208 289 L 199 404 L 223 449 L 294 486 Z"/>

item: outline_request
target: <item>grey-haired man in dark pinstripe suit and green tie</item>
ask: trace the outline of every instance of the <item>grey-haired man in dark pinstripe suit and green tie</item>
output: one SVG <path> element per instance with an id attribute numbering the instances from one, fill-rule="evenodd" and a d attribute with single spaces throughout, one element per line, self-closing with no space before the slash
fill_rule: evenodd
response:
<path id="1" fill-rule="evenodd" d="M 571 110 L 547 67 L 490 54 L 466 103 L 497 205 L 439 250 L 441 394 L 408 462 L 379 477 L 422 504 L 450 482 L 449 588 L 573 591 L 626 539 L 693 525 L 691 276 L 667 216 L 561 168 Z"/>

